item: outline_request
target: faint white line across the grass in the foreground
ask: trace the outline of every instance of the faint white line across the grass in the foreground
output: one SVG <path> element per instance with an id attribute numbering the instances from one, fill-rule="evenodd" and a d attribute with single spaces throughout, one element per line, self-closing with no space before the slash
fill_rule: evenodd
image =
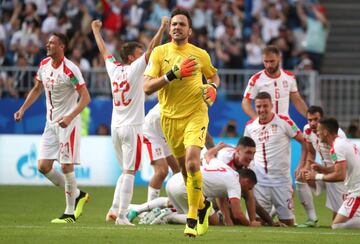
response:
<path id="1" fill-rule="evenodd" d="M 57 225 L 59 226 L 59 225 Z M 39 225 L 0 225 L 0 229 L 52 229 L 53 227 L 50 226 L 39 226 Z M 82 230 L 115 230 L 115 229 L 122 229 L 122 230 L 135 230 L 135 231 L 180 231 L 179 228 L 169 228 L 169 227 L 162 227 L 162 228 L 152 228 L 150 226 L 147 227 L 141 227 L 141 225 L 136 225 L 136 227 L 127 227 L 127 226 L 62 226 L 62 229 L 82 229 Z M 243 230 L 215 230 L 215 229 L 209 229 L 209 232 L 224 232 L 224 233 L 255 233 L 255 231 L 243 231 Z M 277 234 L 299 234 L 299 235 L 336 235 L 336 236 L 360 236 L 360 233 L 341 233 L 338 231 L 334 232 L 315 232 L 315 231 L 289 231 L 289 230 L 281 230 L 279 228 L 279 231 L 275 230 L 266 230 L 266 229 L 256 229 L 256 233 L 277 233 Z"/>

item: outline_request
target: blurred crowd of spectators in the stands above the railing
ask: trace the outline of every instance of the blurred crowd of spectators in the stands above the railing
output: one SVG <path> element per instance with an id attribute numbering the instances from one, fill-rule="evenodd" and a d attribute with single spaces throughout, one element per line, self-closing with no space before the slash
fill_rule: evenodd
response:
<path id="1" fill-rule="evenodd" d="M 0 66 L 37 66 L 49 35 L 62 32 L 70 39 L 69 59 L 85 72 L 103 68 L 93 19 L 103 21 L 106 45 L 120 59 L 123 42 L 147 45 L 161 17 L 175 7 L 191 12 L 191 42 L 207 50 L 219 69 L 262 69 L 262 48 L 275 44 L 283 68 L 320 70 L 328 23 L 314 0 L 2 0 Z M 23 96 L 16 84 L 25 75 L 0 73 L 0 97 Z"/>

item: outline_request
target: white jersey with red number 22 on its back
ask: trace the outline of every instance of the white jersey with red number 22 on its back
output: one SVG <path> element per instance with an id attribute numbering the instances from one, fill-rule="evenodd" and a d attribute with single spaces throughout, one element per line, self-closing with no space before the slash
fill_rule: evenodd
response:
<path id="1" fill-rule="evenodd" d="M 143 74 L 145 54 L 130 65 L 123 65 L 113 56 L 106 58 L 105 66 L 110 77 L 113 95 L 112 127 L 141 125 L 145 116 Z"/>

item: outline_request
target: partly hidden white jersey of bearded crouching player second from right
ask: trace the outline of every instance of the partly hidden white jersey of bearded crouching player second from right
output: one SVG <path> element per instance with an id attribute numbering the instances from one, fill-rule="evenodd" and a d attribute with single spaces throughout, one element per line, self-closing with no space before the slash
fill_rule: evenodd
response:
<path id="1" fill-rule="evenodd" d="M 304 126 L 304 139 L 305 142 L 311 143 L 315 151 L 319 153 L 321 164 L 324 166 L 332 165 L 331 156 L 330 156 L 330 146 L 324 142 L 321 142 L 320 138 L 316 133 L 310 128 L 310 125 L 307 124 Z M 338 136 L 346 138 L 346 135 L 342 129 L 339 128 Z"/>

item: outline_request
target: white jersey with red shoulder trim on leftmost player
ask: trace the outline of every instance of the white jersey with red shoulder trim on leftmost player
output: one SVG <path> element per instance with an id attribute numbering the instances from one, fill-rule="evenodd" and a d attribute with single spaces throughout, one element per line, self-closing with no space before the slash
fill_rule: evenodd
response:
<path id="1" fill-rule="evenodd" d="M 52 66 L 47 57 L 40 62 L 35 79 L 43 83 L 46 95 L 46 121 L 55 124 L 71 113 L 79 97 L 78 90 L 85 84 L 80 69 L 66 57 L 59 66 Z"/>

